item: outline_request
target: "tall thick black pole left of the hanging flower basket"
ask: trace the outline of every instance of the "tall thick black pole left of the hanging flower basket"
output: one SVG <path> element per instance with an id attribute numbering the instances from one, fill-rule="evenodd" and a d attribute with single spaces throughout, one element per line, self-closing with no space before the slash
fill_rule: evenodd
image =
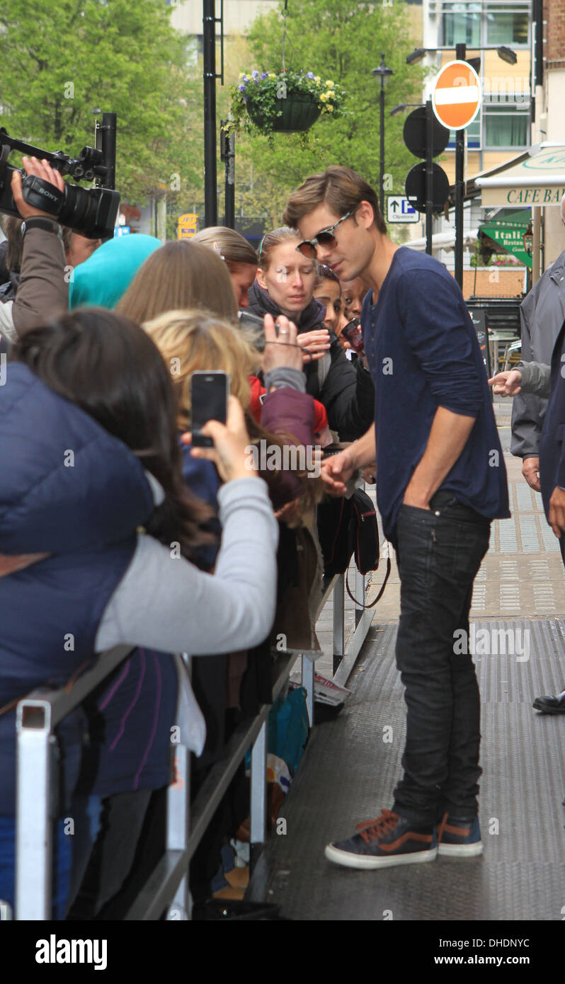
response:
<path id="1" fill-rule="evenodd" d="M 204 224 L 218 225 L 216 170 L 216 0 L 203 0 Z"/>

